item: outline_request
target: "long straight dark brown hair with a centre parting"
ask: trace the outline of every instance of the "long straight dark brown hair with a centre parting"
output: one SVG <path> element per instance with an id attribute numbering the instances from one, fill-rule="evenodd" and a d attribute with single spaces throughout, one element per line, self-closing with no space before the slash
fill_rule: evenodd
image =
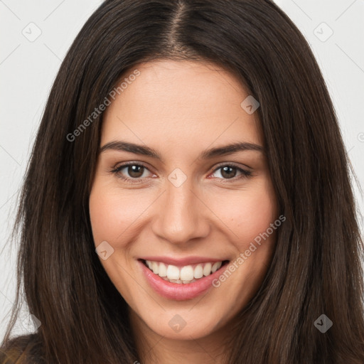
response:
<path id="1" fill-rule="evenodd" d="M 286 217 L 264 282 L 235 319 L 227 363 L 363 364 L 363 241 L 348 156 L 308 43 L 269 0 L 107 0 L 85 23 L 53 84 L 23 184 L 3 363 L 6 355 L 14 363 L 139 360 L 127 304 L 95 254 L 90 226 L 102 113 L 67 136 L 128 70 L 161 58 L 220 65 L 259 101 Z M 11 338 L 21 284 L 41 326 Z M 333 322 L 325 333 L 314 325 L 322 314 Z"/>

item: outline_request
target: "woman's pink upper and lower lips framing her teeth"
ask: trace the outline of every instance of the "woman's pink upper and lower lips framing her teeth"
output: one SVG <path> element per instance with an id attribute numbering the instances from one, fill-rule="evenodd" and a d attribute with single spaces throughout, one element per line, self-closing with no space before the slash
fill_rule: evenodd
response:
<path id="1" fill-rule="evenodd" d="M 186 259 L 169 259 L 166 257 L 145 257 L 145 260 L 152 260 L 154 262 L 164 262 L 165 264 L 173 264 L 177 267 L 181 267 L 188 264 L 196 264 L 203 262 L 220 262 L 221 260 L 217 259 L 201 259 L 198 257 L 194 258 L 186 258 Z M 188 283 L 188 284 L 178 284 L 168 282 L 158 274 L 154 274 L 151 270 L 146 267 L 144 262 L 138 260 L 138 263 L 141 267 L 141 270 L 146 277 L 146 280 L 149 282 L 151 287 L 161 296 L 164 296 L 167 299 L 174 299 L 176 301 L 183 301 L 187 299 L 194 299 L 200 294 L 203 294 L 205 291 L 212 286 L 213 279 L 218 278 L 220 274 L 222 274 L 223 270 L 228 266 L 224 264 L 213 274 L 208 275 L 207 277 L 202 277 L 196 282 Z"/>

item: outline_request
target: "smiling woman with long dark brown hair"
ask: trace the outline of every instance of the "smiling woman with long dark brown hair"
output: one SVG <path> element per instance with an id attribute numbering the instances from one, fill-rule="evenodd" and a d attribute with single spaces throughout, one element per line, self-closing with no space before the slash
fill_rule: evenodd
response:
<path id="1" fill-rule="evenodd" d="M 105 1 L 55 79 L 16 228 L 40 326 L 10 323 L 3 363 L 364 362 L 348 158 L 271 1 Z"/>

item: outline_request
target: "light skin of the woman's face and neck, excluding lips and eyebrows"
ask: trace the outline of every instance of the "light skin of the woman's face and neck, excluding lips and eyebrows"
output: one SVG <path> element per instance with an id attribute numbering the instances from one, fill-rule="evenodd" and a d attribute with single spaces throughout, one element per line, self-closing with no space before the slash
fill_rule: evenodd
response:
<path id="1" fill-rule="evenodd" d="M 194 299 L 161 296 L 137 259 L 199 256 L 233 262 L 277 219 L 263 151 L 199 158 L 206 149 L 237 142 L 263 149 L 257 112 L 242 109 L 249 93 L 217 65 L 157 60 L 137 69 L 137 79 L 107 107 L 100 148 L 127 141 L 155 149 L 162 160 L 112 148 L 100 153 L 90 194 L 95 246 L 106 241 L 114 249 L 100 261 L 129 304 L 142 363 L 223 363 L 230 323 L 262 284 L 275 232 L 220 287 Z M 145 168 L 139 175 L 128 166 L 112 172 L 128 161 Z M 226 166 L 232 168 L 228 173 Z M 178 187 L 168 179 L 176 168 L 186 176 Z M 168 325 L 176 314 L 186 322 L 178 332 Z"/>

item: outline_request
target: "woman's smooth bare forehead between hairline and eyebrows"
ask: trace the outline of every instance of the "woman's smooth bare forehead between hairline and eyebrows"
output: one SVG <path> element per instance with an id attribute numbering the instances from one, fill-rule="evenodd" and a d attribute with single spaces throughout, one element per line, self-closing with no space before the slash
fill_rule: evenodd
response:
<path id="1" fill-rule="evenodd" d="M 139 75 L 129 77 L 134 70 Z M 249 93 L 218 65 L 157 60 L 129 70 L 118 85 L 123 80 L 105 112 L 102 144 L 128 138 L 191 147 L 217 139 L 262 144 L 257 113 L 240 106 Z"/>

